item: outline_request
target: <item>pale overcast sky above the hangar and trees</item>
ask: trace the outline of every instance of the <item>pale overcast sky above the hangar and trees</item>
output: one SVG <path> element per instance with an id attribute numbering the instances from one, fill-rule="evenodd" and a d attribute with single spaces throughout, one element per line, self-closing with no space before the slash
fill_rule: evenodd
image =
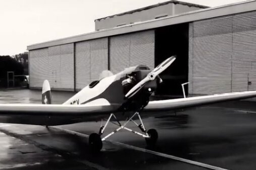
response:
<path id="1" fill-rule="evenodd" d="M 94 19 L 167 0 L 0 0 L 0 55 L 27 45 L 94 31 Z M 216 7 L 244 0 L 182 0 Z"/>

